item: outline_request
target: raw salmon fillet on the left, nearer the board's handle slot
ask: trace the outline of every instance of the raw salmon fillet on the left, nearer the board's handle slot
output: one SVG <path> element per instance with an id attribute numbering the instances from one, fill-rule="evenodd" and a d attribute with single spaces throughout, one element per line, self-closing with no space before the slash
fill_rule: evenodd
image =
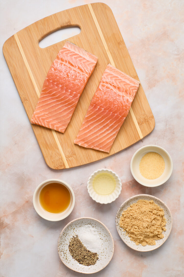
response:
<path id="1" fill-rule="evenodd" d="M 65 132 L 97 57 L 66 42 L 52 63 L 31 123 Z"/>

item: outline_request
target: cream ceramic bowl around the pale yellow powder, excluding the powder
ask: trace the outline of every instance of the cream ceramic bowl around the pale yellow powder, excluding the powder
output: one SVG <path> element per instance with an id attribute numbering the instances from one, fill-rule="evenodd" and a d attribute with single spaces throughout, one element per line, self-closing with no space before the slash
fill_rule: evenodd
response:
<path id="1" fill-rule="evenodd" d="M 142 157 L 148 152 L 156 152 L 162 156 L 165 162 L 164 172 L 157 179 L 149 180 L 144 178 L 139 171 L 139 164 Z M 172 159 L 169 153 L 162 147 L 157 145 L 146 145 L 138 149 L 133 155 L 130 162 L 130 170 L 134 179 L 146 187 L 157 187 L 164 184 L 170 177 L 173 169 Z"/>

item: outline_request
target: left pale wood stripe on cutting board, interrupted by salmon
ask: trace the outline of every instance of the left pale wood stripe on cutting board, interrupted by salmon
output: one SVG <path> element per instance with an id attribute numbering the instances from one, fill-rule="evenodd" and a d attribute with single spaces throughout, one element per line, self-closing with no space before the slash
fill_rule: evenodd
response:
<path id="1" fill-rule="evenodd" d="M 16 40 L 16 42 L 17 42 L 17 45 L 18 45 L 18 48 L 19 48 L 20 53 L 21 53 L 21 55 L 22 55 L 23 61 L 24 61 L 25 66 L 26 66 L 26 68 L 27 68 L 27 70 L 28 70 L 28 73 L 29 73 L 29 75 L 30 75 L 30 78 L 31 78 L 31 81 L 32 81 L 32 83 L 33 83 L 33 86 L 34 86 L 34 89 L 35 89 L 35 91 L 36 91 L 36 94 L 38 95 L 38 97 L 40 97 L 40 92 L 39 92 L 38 86 L 37 86 L 36 81 L 35 81 L 35 79 L 34 79 L 33 73 L 31 72 L 31 68 L 30 68 L 30 66 L 29 66 L 29 64 L 28 64 L 28 61 L 27 61 L 27 59 L 26 59 L 25 53 L 24 53 L 24 51 L 23 51 L 23 49 L 22 49 L 22 45 L 21 45 L 21 43 L 20 43 L 20 40 L 18 39 L 17 34 L 14 35 L 14 38 L 15 38 L 15 40 Z M 68 165 L 68 163 L 67 163 L 67 161 L 66 161 L 66 158 L 65 158 L 63 149 L 62 149 L 62 147 L 61 147 L 61 145 L 60 145 L 60 143 L 59 143 L 58 137 L 57 137 L 57 135 L 56 135 L 56 133 L 55 133 L 54 130 L 52 130 L 52 134 L 53 134 L 53 137 L 54 137 L 54 139 L 55 139 L 55 142 L 56 142 L 56 144 L 57 144 L 57 146 L 58 146 L 58 149 L 59 149 L 59 151 L 60 151 L 60 154 L 61 154 L 63 163 L 65 164 L 65 167 L 66 167 L 66 168 L 69 168 L 69 165 Z"/>

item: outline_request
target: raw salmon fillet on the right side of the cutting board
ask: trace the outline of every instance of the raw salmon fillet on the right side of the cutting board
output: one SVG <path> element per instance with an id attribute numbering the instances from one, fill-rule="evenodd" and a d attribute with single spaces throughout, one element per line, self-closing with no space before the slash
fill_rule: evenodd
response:
<path id="1" fill-rule="evenodd" d="M 74 143 L 109 152 L 138 87 L 137 80 L 109 64 Z"/>

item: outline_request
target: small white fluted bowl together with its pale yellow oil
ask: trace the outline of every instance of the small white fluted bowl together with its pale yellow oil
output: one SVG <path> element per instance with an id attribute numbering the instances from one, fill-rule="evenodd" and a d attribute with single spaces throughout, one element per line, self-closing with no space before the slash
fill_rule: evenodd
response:
<path id="1" fill-rule="evenodd" d="M 96 202 L 108 204 L 116 200 L 121 193 L 121 180 L 114 171 L 99 169 L 89 177 L 87 191 Z"/>

